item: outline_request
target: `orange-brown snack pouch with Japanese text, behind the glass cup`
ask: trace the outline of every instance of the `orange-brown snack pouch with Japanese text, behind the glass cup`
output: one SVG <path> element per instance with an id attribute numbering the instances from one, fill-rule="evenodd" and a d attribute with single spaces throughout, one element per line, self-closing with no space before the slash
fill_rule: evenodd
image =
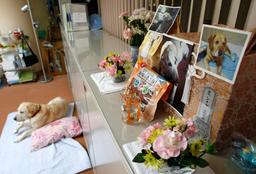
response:
<path id="1" fill-rule="evenodd" d="M 138 60 L 125 87 L 125 95 L 141 98 L 141 115 L 147 121 L 152 121 L 158 101 L 168 99 L 172 84 Z"/>

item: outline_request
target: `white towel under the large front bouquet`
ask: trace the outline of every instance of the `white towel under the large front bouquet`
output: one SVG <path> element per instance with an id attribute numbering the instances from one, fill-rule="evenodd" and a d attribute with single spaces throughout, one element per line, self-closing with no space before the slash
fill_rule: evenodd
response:
<path id="1" fill-rule="evenodd" d="M 138 153 L 141 153 L 142 148 L 143 147 L 139 145 L 137 141 L 123 145 L 123 149 L 125 150 L 126 154 L 129 156 L 128 160 L 130 160 L 130 162 L 133 164 L 133 167 L 136 173 L 146 173 L 146 174 L 156 173 L 155 169 L 151 166 L 147 169 L 146 165 L 144 165 L 143 163 L 132 162 L 134 157 Z M 197 167 L 196 171 L 193 172 L 193 174 L 203 174 L 203 173 L 213 174 L 214 172 L 212 171 L 212 169 L 210 169 L 209 166 L 205 168 Z"/>

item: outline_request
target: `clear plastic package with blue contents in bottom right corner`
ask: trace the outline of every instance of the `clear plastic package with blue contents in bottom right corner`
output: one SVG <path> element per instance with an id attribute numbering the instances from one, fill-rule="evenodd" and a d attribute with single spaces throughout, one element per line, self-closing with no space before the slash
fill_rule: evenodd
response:
<path id="1" fill-rule="evenodd" d="M 256 173 L 256 145 L 238 132 L 232 133 L 230 159 L 245 173 Z"/>

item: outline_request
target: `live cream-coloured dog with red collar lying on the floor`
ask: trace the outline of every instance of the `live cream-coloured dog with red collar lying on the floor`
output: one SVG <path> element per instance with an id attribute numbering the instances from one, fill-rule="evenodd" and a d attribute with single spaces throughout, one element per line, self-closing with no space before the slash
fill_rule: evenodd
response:
<path id="1" fill-rule="evenodd" d="M 49 101 L 48 104 L 37 104 L 30 102 L 23 102 L 19 105 L 18 114 L 14 120 L 19 121 L 14 134 L 18 133 L 22 127 L 32 127 L 32 129 L 24 131 L 14 142 L 20 142 L 27 135 L 31 134 L 33 130 L 41 128 L 55 120 L 65 117 L 68 112 L 68 103 L 61 97 L 56 97 Z M 24 122 L 29 119 L 30 122 Z"/>

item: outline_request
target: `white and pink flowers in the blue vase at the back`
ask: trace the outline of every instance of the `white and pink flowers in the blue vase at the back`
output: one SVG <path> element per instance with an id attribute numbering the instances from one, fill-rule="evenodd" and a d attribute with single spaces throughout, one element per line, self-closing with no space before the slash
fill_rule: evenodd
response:
<path id="1" fill-rule="evenodd" d="M 119 15 L 119 18 L 123 18 L 127 25 L 127 28 L 123 29 L 123 38 L 130 39 L 131 46 L 141 46 L 155 12 L 143 7 L 141 9 L 135 9 L 133 15 L 128 15 L 129 12 L 127 11 Z"/>

